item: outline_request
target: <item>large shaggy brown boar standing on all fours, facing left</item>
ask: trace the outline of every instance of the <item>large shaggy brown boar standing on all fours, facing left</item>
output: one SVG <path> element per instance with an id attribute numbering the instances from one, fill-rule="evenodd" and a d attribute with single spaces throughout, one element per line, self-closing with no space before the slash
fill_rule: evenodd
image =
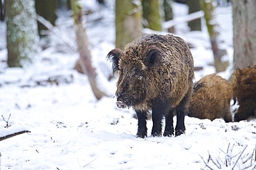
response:
<path id="1" fill-rule="evenodd" d="M 147 35 L 113 49 L 107 55 L 118 71 L 118 108 L 132 107 L 138 117 L 137 137 L 147 136 L 147 113 L 152 111 L 152 136 L 185 133 L 184 117 L 192 95 L 194 62 L 188 44 L 174 35 Z"/>

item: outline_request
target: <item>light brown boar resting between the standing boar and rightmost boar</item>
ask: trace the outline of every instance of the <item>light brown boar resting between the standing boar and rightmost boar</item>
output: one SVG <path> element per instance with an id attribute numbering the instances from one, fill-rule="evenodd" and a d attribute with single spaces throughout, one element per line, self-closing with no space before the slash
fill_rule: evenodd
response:
<path id="1" fill-rule="evenodd" d="M 232 85 L 217 74 L 205 75 L 194 85 L 188 116 L 232 122 L 230 100 Z"/>

